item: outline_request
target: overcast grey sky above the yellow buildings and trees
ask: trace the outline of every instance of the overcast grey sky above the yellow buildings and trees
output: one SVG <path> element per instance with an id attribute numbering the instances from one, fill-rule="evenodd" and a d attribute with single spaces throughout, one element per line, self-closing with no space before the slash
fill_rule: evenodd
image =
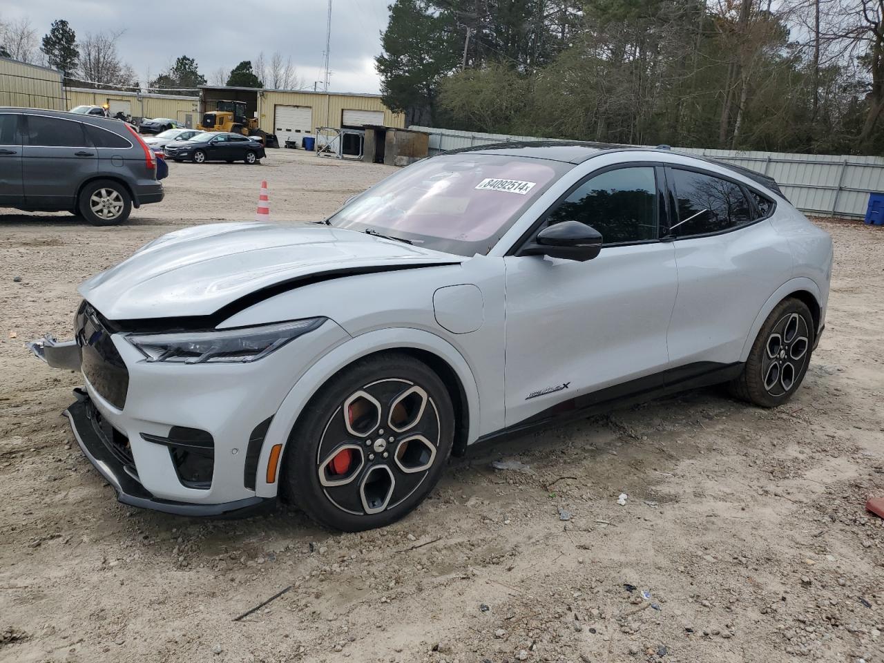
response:
<path id="1" fill-rule="evenodd" d="M 333 0 L 331 7 L 331 91 L 379 92 L 374 57 L 392 0 Z M 264 52 L 291 56 L 310 87 L 323 78 L 325 0 L 27 0 L 4 3 L 0 19 L 31 20 L 40 39 L 55 19 L 67 19 L 77 36 L 122 30 L 120 56 L 141 80 L 153 78 L 176 57 L 194 57 L 210 80 L 223 66 Z"/>

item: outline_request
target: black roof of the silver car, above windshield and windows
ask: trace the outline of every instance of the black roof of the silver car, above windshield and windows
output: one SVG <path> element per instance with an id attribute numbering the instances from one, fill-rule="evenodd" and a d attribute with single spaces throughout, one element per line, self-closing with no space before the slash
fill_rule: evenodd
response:
<path id="1" fill-rule="evenodd" d="M 771 177 L 767 177 L 758 171 L 752 171 L 740 165 L 728 164 L 708 156 L 697 156 L 687 152 L 670 150 L 680 156 L 689 156 L 697 161 L 705 161 L 707 164 L 715 164 L 743 175 L 743 177 L 758 182 L 762 187 L 782 195 L 779 185 Z M 549 159 L 560 161 L 565 164 L 583 164 L 584 161 L 603 152 L 617 151 L 653 151 L 651 148 L 636 148 L 634 145 L 621 145 L 618 143 L 589 142 L 589 141 L 514 141 L 497 142 L 488 145 L 476 145 L 470 148 L 452 149 L 444 154 L 459 154 L 461 152 L 476 152 L 478 154 L 502 154 L 506 156 L 524 156 L 534 159 Z"/>

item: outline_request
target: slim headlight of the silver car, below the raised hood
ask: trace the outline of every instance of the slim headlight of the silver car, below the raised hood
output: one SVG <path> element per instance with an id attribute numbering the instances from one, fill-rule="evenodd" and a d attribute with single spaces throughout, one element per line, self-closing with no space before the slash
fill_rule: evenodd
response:
<path id="1" fill-rule="evenodd" d="M 259 327 L 174 334 L 130 334 L 129 341 L 148 362 L 257 362 L 325 322 L 324 317 Z"/>

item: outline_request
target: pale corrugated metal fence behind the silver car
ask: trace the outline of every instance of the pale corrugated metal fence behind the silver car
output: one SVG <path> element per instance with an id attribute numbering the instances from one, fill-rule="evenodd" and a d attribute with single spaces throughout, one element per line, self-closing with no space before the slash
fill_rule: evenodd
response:
<path id="1" fill-rule="evenodd" d="M 536 136 L 471 133 L 430 126 L 409 128 L 430 134 L 430 153 L 501 141 L 543 141 Z M 649 146 L 636 146 L 649 147 Z M 772 177 L 783 194 L 809 214 L 865 217 L 869 194 L 884 193 L 884 158 L 880 156 L 811 155 L 788 152 L 741 152 L 734 149 L 674 148 L 741 165 Z"/>

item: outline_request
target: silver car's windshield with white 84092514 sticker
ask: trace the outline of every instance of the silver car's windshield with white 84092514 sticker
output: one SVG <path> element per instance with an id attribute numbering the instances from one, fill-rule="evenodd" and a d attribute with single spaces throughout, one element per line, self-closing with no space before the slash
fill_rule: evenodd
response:
<path id="1" fill-rule="evenodd" d="M 486 254 L 573 164 L 506 155 L 434 156 L 348 202 L 329 225 L 457 255 Z"/>

